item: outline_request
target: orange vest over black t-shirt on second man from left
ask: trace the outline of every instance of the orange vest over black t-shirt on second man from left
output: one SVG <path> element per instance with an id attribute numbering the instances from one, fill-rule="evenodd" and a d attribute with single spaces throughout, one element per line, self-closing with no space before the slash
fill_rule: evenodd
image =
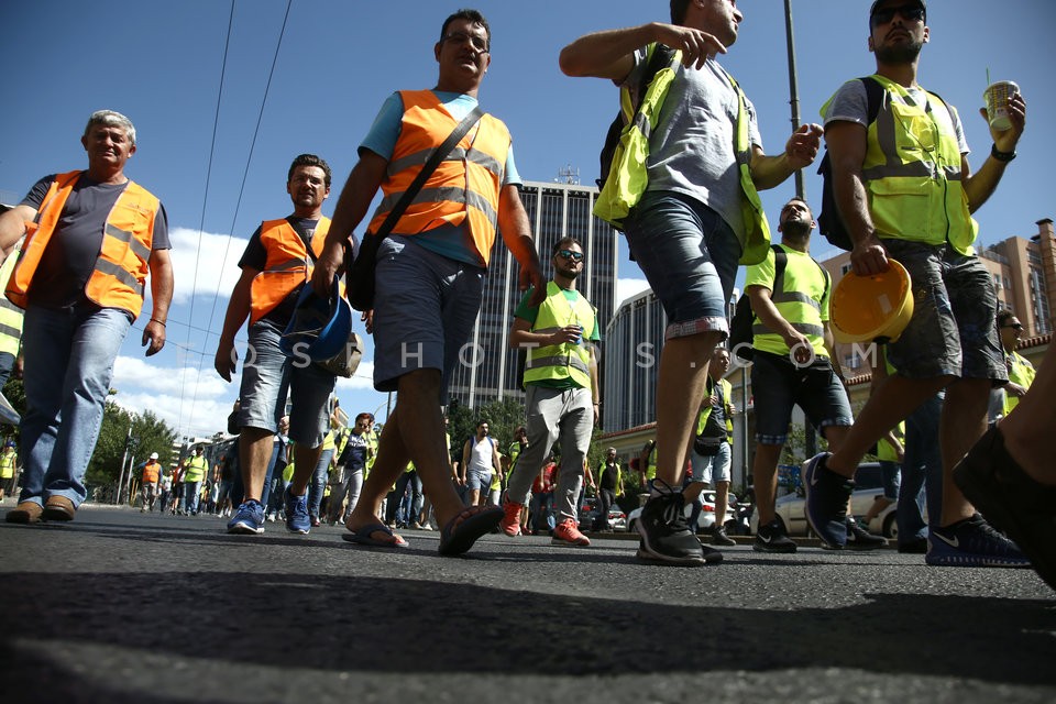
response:
<path id="1" fill-rule="evenodd" d="M 316 256 L 322 254 L 329 230 L 330 219 L 319 218 L 311 235 Z M 285 218 L 261 223 L 261 244 L 267 252 L 267 261 L 264 271 L 250 284 L 250 324 L 270 314 L 294 289 L 311 278 L 314 268 L 305 241 Z"/>

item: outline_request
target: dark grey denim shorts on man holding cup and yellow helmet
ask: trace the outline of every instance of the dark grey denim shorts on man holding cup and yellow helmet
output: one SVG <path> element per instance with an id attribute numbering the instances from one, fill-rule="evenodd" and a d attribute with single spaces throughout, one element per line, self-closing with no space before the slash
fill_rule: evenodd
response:
<path id="1" fill-rule="evenodd" d="M 888 255 L 910 273 L 913 317 L 888 360 L 908 378 L 1008 381 L 998 339 L 998 300 L 990 273 L 952 246 L 884 240 Z"/>

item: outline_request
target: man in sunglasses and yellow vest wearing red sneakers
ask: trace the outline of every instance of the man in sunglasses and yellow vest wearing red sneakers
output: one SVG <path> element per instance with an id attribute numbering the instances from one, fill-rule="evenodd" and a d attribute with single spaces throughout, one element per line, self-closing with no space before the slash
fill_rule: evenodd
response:
<path id="1" fill-rule="evenodd" d="M 558 521 L 551 542 L 585 547 L 591 540 L 580 532 L 576 497 L 583 488 L 584 460 L 601 404 L 594 355 L 601 337 L 597 311 L 575 290 L 575 279 L 583 273 L 583 245 L 575 238 L 562 238 L 553 244 L 552 255 L 553 280 L 547 284 L 547 297 L 532 306 L 532 292 L 525 294 L 509 333 L 510 345 L 528 351 L 528 447 L 509 475 L 502 527 L 508 536 L 520 535 L 520 514 L 532 479 L 539 476 L 543 458 L 560 439 L 561 473 L 553 497 Z"/>

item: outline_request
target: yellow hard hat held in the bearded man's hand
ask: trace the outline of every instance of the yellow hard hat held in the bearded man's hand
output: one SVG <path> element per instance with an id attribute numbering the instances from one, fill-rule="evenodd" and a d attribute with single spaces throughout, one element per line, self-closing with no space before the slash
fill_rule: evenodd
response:
<path id="1" fill-rule="evenodd" d="M 847 272 L 828 301 L 828 321 L 837 342 L 894 342 L 913 317 L 910 274 L 894 260 L 882 274 Z"/>

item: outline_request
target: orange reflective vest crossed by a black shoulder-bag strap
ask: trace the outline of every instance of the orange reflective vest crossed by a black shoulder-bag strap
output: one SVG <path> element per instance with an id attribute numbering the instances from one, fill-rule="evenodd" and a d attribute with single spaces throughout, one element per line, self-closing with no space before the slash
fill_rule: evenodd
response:
<path id="1" fill-rule="evenodd" d="M 384 197 L 371 220 L 371 232 L 382 227 L 429 155 L 459 124 L 431 90 L 402 90 L 399 96 L 404 102 L 399 139 L 382 184 Z M 484 114 L 440 162 L 393 232 L 414 235 L 444 224 L 464 226 L 486 266 L 498 227 L 498 197 L 509 145 L 506 125 Z"/>

